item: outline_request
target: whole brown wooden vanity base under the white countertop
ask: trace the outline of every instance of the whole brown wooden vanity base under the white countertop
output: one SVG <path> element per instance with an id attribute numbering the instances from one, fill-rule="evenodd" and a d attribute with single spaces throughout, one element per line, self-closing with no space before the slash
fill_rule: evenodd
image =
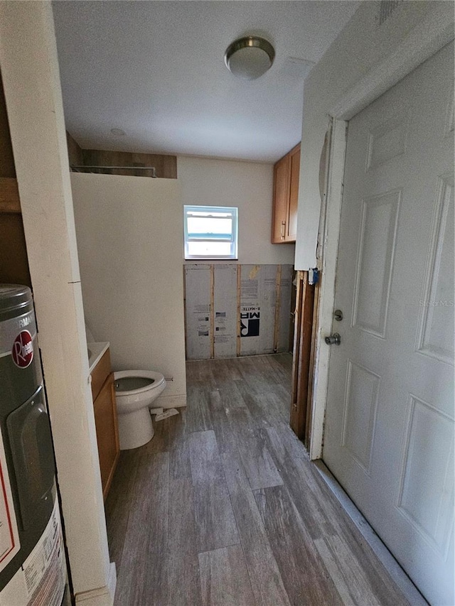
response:
<path id="1" fill-rule="evenodd" d="M 92 396 L 102 494 L 106 500 L 120 453 L 114 373 L 111 372 L 109 349 L 92 370 Z"/>

